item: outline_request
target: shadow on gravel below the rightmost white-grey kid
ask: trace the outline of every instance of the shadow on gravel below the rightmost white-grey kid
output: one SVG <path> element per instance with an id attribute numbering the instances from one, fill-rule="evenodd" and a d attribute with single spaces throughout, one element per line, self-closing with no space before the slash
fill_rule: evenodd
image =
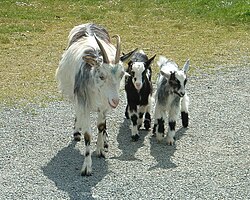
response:
<path id="1" fill-rule="evenodd" d="M 180 128 L 176 131 L 175 139 L 176 141 L 181 139 L 182 136 L 185 135 L 187 128 Z M 162 168 L 162 169 L 170 169 L 177 167 L 176 164 L 172 163 L 171 157 L 174 155 L 176 151 L 176 146 L 168 146 L 166 141 L 162 141 L 162 143 L 158 143 L 155 137 L 150 138 L 150 154 L 157 161 L 157 165 L 149 168 L 149 171 Z"/>

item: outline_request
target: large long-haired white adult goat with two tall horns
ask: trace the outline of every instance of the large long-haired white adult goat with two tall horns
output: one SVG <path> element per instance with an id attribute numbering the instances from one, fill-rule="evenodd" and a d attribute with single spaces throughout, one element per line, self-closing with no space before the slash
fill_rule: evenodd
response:
<path id="1" fill-rule="evenodd" d="M 118 106 L 120 81 L 125 74 L 123 62 L 135 52 L 120 57 L 120 37 L 115 37 L 116 47 L 111 44 L 105 28 L 92 23 L 75 26 L 69 33 L 68 47 L 56 71 L 59 89 L 74 104 L 74 139 L 80 140 L 80 132 L 84 135 L 85 158 L 81 175 L 92 173 L 90 112 L 98 113 L 96 153 L 105 157 L 107 112 Z"/>

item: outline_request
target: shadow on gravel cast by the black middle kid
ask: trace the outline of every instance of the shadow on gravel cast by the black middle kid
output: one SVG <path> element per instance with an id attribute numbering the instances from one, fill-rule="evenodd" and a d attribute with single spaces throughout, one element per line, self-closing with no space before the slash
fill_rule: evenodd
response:
<path id="1" fill-rule="evenodd" d="M 122 150 L 122 154 L 119 157 L 113 157 L 113 159 L 115 158 L 118 160 L 141 161 L 140 159 L 135 157 L 135 153 L 140 147 L 144 145 L 144 138 L 148 134 L 148 132 L 140 130 L 139 134 L 139 140 L 133 142 L 131 139 L 130 120 L 124 118 L 124 121 L 123 123 L 121 123 L 119 133 L 117 135 L 118 148 Z"/>

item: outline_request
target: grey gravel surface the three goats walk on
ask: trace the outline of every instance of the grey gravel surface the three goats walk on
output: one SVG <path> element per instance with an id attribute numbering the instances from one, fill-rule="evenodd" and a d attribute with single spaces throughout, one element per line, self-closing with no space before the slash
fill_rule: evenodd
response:
<path id="1" fill-rule="evenodd" d="M 69 103 L 2 108 L 0 199 L 250 199 L 250 67 L 190 77 L 187 87 L 190 126 L 178 121 L 174 146 L 145 131 L 131 142 L 122 91 L 107 158 L 93 153 L 90 177 L 80 176 L 84 144 L 72 141 Z"/>

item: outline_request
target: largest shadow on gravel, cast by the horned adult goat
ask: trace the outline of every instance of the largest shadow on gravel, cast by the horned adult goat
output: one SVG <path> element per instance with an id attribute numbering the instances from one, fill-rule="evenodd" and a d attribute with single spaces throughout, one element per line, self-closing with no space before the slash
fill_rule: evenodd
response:
<path id="1" fill-rule="evenodd" d="M 91 188 L 95 187 L 107 174 L 106 161 L 95 157 L 93 153 L 93 175 L 81 176 L 80 170 L 84 157 L 75 145 L 76 142 L 72 141 L 60 150 L 47 166 L 42 168 L 43 173 L 55 183 L 59 190 L 66 192 L 70 199 L 94 199 Z"/>

